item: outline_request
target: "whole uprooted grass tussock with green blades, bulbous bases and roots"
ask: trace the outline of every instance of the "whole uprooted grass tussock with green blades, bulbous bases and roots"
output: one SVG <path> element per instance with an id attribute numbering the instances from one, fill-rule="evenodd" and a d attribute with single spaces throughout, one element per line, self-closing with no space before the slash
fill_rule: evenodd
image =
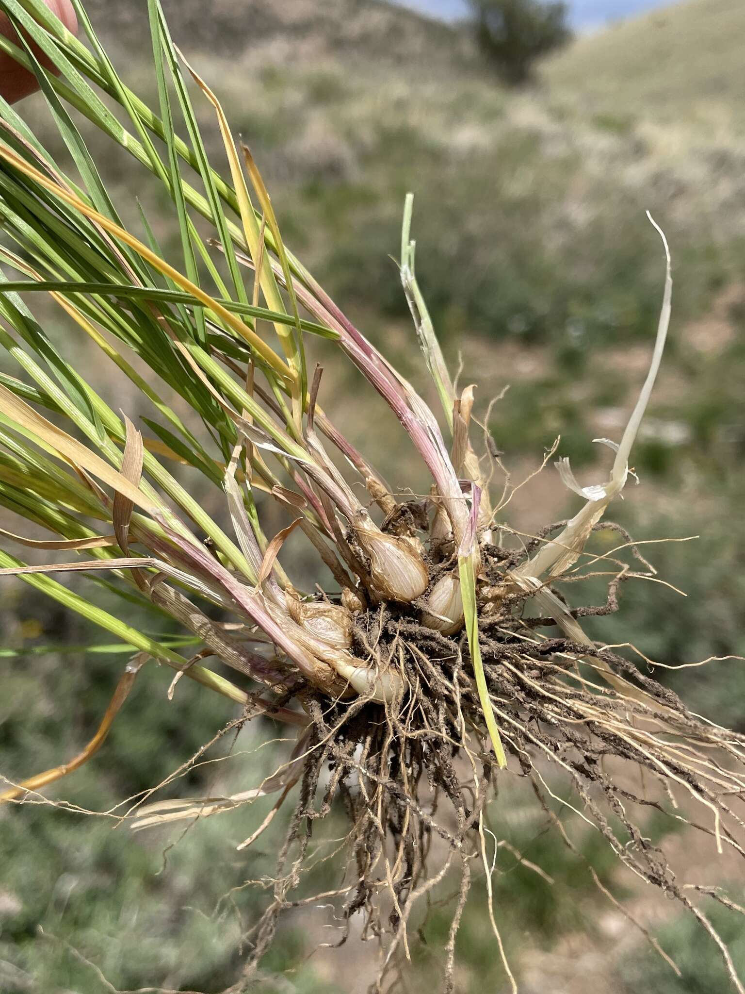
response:
<path id="1" fill-rule="evenodd" d="M 164 708 L 178 707 L 182 678 L 240 706 L 185 768 L 259 716 L 296 737 L 274 772 L 242 791 L 153 799 L 148 790 L 124 809 L 135 829 L 182 828 L 275 795 L 238 846 L 246 859 L 289 809 L 275 871 L 256 882 L 264 907 L 242 929 L 240 979 L 230 990 L 255 978 L 284 911 L 321 901 L 333 909 L 340 942 L 353 925 L 379 941 L 382 989 L 410 955 L 422 914 L 455 880 L 444 948 L 452 989 L 458 927 L 482 871 L 496 948 L 517 989 L 492 902 L 485 818 L 497 787 L 515 777 L 575 854 L 564 808 L 593 826 L 624 867 L 690 911 L 742 992 L 696 899 L 741 910 L 706 883 L 680 882 L 644 826 L 652 808 L 708 835 L 722 856 L 745 855 L 745 738 L 697 717 L 618 646 L 591 640 L 579 620 L 617 611 L 630 580 L 659 581 L 629 534 L 601 519 L 632 472 L 663 357 L 672 286 L 665 236 L 649 373 L 620 439 L 598 439 L 615 452 L 608 479 L 583 487 L 560 459 L 557 479 L 582 507 L 522 536 L 506 520 L 521 485 L 475 414 L 474 388 L 451 377 L 416 278 L 411 198 L 401 292 L 444 431 L 286 247 L 251 152 L 235 144 L 218 96 L 174 45 L 158 0 L 148 4 L 157 113 L 119 78 L 75 6 L 89 48 L 40 0 L 2 3 L 59 74 L 23 42 L 0 43 L 39 76 L 67 153 L 63 166 L 12 107 L 0 106 L 0 253 L 14 277 L 0 284 L 0 344 L 12 361 L 0 374 L 0 504 L 23 520 L 19 527 L 55 537 L 2 534 L 36 558 L 64 560 L 27 564 L 2 551 L 0 574 L 77 611 L 133 655 L 89 745 L 43 773 L 7 776 L 2 799 L 17 802 L 23 818 L 42 788 L 90 759 L 154 659 L 174 671 Z M 229 182 L 211 165 L 193 100 L 211 112 Z M 71 111 L 132 157 L 133 176 L 144 167 L 161 185 L 178 221 L 176 250 L 162 250 L 145 212 L 127 205 L 136 223 L 118 213 Z M 40 300 L 36 317 L 29 301 Z M 117 414 L 48 334 L 63 314 L 128 382 L 132 416 Z M 312 351 L 341 352 L 379 395 L 426 469 L 427 493 L 394 492 L 346 437 L 324 409 L 338 399 L 325 397 Z M 146 430 L 134 421 L 140 404 L 150 409 Z M 273 534 L 267 521 L 280 522 Z M 590 555 L 600 528 L 618 544 Z M 300 536 L 314 557 L 305 583 L 286 555 Z M 106 611 L 55 579 L 70 573 L 105 583 L 121 609 Z M 606 602 L 570 606 L 566 584 L 598 577 L 608 584 Z M 127 623 L 133 605 L 167 618 L 180 635 Z M 322 855 L 316 840 L 328 847 L 324 823 L 336 826 L 340 812 L 343 835 Z M 314 872 L 325 862 L 336 883 L 319 894 Z"/>

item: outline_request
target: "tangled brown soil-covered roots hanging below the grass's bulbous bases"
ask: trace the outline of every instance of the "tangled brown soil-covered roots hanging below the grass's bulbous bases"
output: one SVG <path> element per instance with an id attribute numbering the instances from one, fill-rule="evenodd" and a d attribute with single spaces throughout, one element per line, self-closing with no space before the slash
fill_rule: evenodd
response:
<path id="1" fill-rule="evenodd" d="M 654 572 L 628 534 L 612 527 L 644 568 Z M 514 560 L 493 557 L 493 562 L 504 576 Z M 605 604 L 580 607 L 572 615 L 617 610 L 619 587 L 634 576 L 624 567 L 610 580 Z M 523 617 L 528 599 L 527 593 L 505 598 L 490 616 L 482 639 L 489 693 L 513 757 L 512 772 L 530 781 L 552 829 L 576 853 L 554 810 L 555 788 L 548 787 L 550 781 L 563 781 L 577 798 L 576 809 L 600 832 L 619 862 L 697 917 L 718 945 L 733 989 L 741 991 L 724 943 L 690 900 L 686 885 L 678 883 L 664 850 L 646 836 L 642 819 L 643 812 L 654 807 L 708 834 L 719 851 L 726 847 L 745 855 L 743 820 L 737 813 L 745 800 L 745 737 L 702 721 L 671 690 L 615 652 L 538 634 L 537 629 L 552 620 Z M 467 645 L 462 638 L 424 628 L 412 613 L 392 605 L 359 617 L 356 637 L 361 654 L 364 650 L 375 665 L 395 664 L 405 691 L 385 706 L 357 698 L 330 707 L 328 700 L 312 694 L 305 700 L 315 751 L 306 760 L 300 798 L 277 864 L 273 900 L 245 936 L 252 951 L 241 982 L 255 975 L 280 913 L 307 900 L 294 895 L 303 891 L 313 825 L 336 809 L 336 797 L 349 824 L 347 862 L 336 892 L 335 907 L 344 922 L 339 943 L 347 940 L 353 918 L 359 920 L 364 939 L 381 943 L 373 990 L 382 991 L 399 958 L 409 956 L 411 934 L 421 933 L 429 899 L 446 883 L 451 888 L 455 879 L 443 950 L 443 989 L 452 991 L 458 928 L 480 864 L 491 893 L 480 826 L 496 767 Z M 628 695 L 597 680 L 601 665 L 611 667 Z M 637 689 L 645 694 L 640 697 Z M 609 763 L 613 772 L 607 771 Z M 644 771 L 643 793 L 630 785 L 627 767 Z M 328 779 L 320 786 L 324 769 Z M 701 813 L 688 817 L 681 813 L 683 806 L 698 807 Z M 622 907 L 594 869 L 589 872 L 604 897 Z M 734 913 L 741 911 L 714 890 L 696 891 L 714 896 Z M 508 980 L 517 990 L 494 911 L 490 913 Z M 654 936 L 631 920 L 674 969 Z"/>

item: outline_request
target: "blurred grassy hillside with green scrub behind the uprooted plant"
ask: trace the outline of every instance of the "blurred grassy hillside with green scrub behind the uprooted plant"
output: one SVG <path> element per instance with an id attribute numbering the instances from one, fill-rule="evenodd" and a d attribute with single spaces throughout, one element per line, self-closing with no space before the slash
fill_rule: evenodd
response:
<path id="1" fill-rule="evenodd" d="M 629 584 L 621 614 L 601 619 L 595 632 L 608 641 L 632 638 L 668 664 L 745 654 L 741 0 L 690 0 L 580 39 L 545 65 L 538 87 L 519 93 L 497 83 L 465 34 L 380 0 L 164 6 L 175 41 L 250 144 L 285 240 L 426 392 L 421 368 L 405 355 L 413 331 L 389 257 L 399 244 L 404 194 L 415 192 L 420 283 L 453 369 L 462 356 L 461 383 L 479 384 L 480 414 L 510 385 L 490 427 L 517 479 L 558 433 L 560 453 L 571 456 L 582 482 L 604 471 L 591 439 L 618 436 L 657 325 L 664 258 L 645 217 L 651 210 L 673 255 L 671 343 L 635 452 L 642 486 L 629 487 L 613 516 L 641 538 L 701 539 L 650 547 L 661 576 L 685 589 L 687 601 L 663 584 Z M 144 0 L 88 0 L 86 8 L 124 79 L 155 102 Z M 59 148 L 42 102 L 28 109 L 44 143 Z M 220 162 L 209 108 L 201 115 Z M 84 124 L 81 130 L 113 181 L 117 207 L 137 224 L 136 193 L 179 258 L 162 192 L 118 148 Z M 324 388 L 349 389 L 333 401 L 329 390 L 326 406 L 394 485 L 408 482 L 410 453 L 396 424 L 381 420 L 371 431 L 379 408 L 360 400 L 358 381 L 332 355 L 323 355 Z M 95 382 L 97 356 L 81 348 L 78 358 Z M 107 375 L 97 374 L 108 389 Z M 528 529 L 575 508 L 549 467 L 518 495 L 510 520 Z M 157 630 L 161 622 L 140 623 Z M 77 651 L 100 635 L 50 610 L 20 582 L 3 588 L 0 624 L 8 688 L 0 749 L 3 768 L 20 776 L 86 742 L 126 657 Z M 50 643 L 60 651 L 44 652 Z M 742 664 L 719 665 L 684 670 L 673 683 L 702 713 L 745 728 Z M 234 717 L 222 702 L 203 702 L 187 681 L 177 712 L 156 667 L 138 680 L 105 748 L 51 795 L 103 810 L 166 777 Z M 268 723 L 262 733 L 276 734 Z M 246 776 L 253 783 L 256 764 L 270 768 L 268 751 L 256 759 L 256 748 L 241 733 L 228 770 L 200 767 L 176 791 L 242 789 Z M 244 878 L 270 872 L 269 836 L 264 849 L 251 851 L 256 862 L 248 868 L 234 852 L 268 807 L 261 802 L 248 816 L 201 824 L 165 855 L 178 833 L 132 837 L 112 831 L 110 817 L 0 809 L 0 991 L 106 990 L 65 941 L 120 988 L 221 989 L 234 971 L 239 928 L 219 899 Z M 604 915 L 598 911 L 585 868 L 554 851 L 531 809 L 510 802 L 505 810 L 498 812 L 505 838 L 558 882 L 549 888 L 507 863 L 499 877 L 523 990 L 584 994 L 602 985 L 608 994 L 636 994 L 649 960 L 633 928 L 605 905 Z M 586 840 L 586 850 L 602 869 L 597 841 Z M 688 855 L 692 867 L 704 859 Z M 252 900 L 236 897 L 246 917 Z M 647 994 L 724 989 L 705 940 L 695 945 L 670 911 L 649 911 L 641 899 L 635 909 L 654 926 L 664 922 L 666 948 L 692 964 L 679 984 L 668 973 L 644 973 Z M 342 954 L 344 970 L 333 958 L 305 962 L 319 940 L 308 920 L 293 919 L 281 935 L 285 958 L 266 964 L 267 974 L 301 964 L 276 989 L 364 990 L 370 961 L 354 938 Z M 40 925 L 62 941 L 41 938 Z M 507 989 L 486 927 L 479 905 L 467 914 L 461 942 L 464 991 Z M 432 948 L 443 934 L 429 936 Z M 435 989 L 436 963 L 427 963 L 420 964 L 421 989 Z"/>

